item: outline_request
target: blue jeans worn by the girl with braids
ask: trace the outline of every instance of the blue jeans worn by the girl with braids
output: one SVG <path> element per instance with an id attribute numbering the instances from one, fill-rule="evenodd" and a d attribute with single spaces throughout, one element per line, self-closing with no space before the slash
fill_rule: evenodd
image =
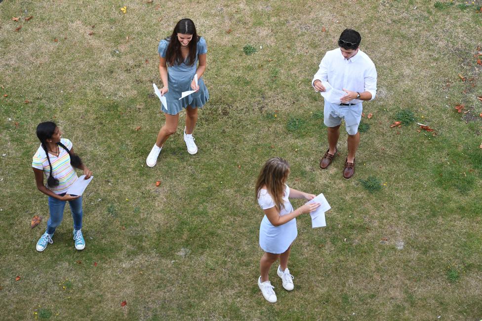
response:
<path id="1" fill-rule="evenodd" d="M 65 195 L 65 194 L 64 194 Z M 50 217 L 47 222 L 47 233 L 53 234 L 57 226 L 60 225 L 64 218 L 64 208 L 66 201 L 60 201 L 54 197 L 48 197 L 48 209 Z M 74 219 L 74 229 L 80 230 L 82 228 L 82 196 L 69 201 L 70 211 Z"/>

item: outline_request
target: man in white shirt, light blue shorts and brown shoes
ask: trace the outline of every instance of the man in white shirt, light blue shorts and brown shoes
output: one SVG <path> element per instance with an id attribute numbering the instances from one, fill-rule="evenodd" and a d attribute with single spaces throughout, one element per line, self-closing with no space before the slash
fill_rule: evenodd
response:
<path id="1" fill-rule="evenodd" d="M 345 179 L 351 178 L 355 173 L 355 153 L 360 143 L 358 126 L 361 120 L 361 102 L 373 100 L 376 95 L 375 65 L 360 50 L 360 42 L 361 35 L 358 32 L 345 29 L 338 40 L 339 48 L 326 52 L 312 81 L 317 92 L 325 91 L 322 82 L 328 82 L 332 88 L 346 93 L 339 103 L 324 100 L 324 124 L 328 127 L 329 148 L 320 160 L 321 169 L 331 164 L 337 152 L 341 120 L 344 119 L 348 133 L 348 156 L 343 169 Z"/>

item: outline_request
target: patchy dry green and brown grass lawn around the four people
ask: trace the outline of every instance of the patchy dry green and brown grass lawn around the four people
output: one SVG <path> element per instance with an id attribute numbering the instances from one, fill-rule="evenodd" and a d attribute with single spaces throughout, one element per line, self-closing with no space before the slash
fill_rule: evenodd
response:
<path id="1" fill-rule="evenodd" d="M 482 319 L 481 6 L 2 1 L 0 319 Z M 184 17 L 208 45 L 199 152 L 186 151 L 182 112 L 158 165 L 147 168 L 164 122 L 152 89 L 161 84 L 157 46 Z M 311 87 L 347 27 L 361 33 L 378 71 L 350 180 L 342 178 L 343 127 L 339 156 L 318 167 L 327 139 Z M 406 124 L 391 128 L 398 119 Z M 69 209 L 54 243 L 35 250 L 48 207 L 31 162 L 35 128 L 46 120 L 94 174 L 82 251 Z M 289 186 L 322 192 L 332 206 L 325 228 L 298 218 L 295 289 L 282 289 L 273 268 L 276 304 L 256 284 L 263 213 L 253 191 L 272 156 L 290 162 Z M 43 221 L 31 229 L 33 215 Z"/>

